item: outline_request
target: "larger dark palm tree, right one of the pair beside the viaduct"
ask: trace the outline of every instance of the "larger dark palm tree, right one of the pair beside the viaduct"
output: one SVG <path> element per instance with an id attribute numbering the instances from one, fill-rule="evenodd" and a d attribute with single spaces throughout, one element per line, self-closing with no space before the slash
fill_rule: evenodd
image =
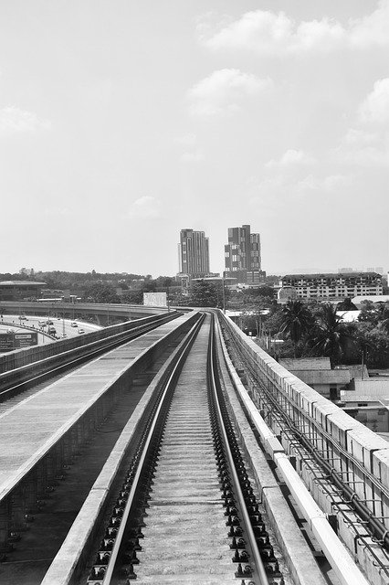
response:
<path id="1" fill-rule="evenodd" d="M 318 314 L 318 324 L 310 336 L 313 353 L 329 356 L 331 361 L 340 361 L 346 346 L 351 342 L 352 327 L 342 323 L 342 317 L 336 314 L 336 306 L 323 304 Z"/>

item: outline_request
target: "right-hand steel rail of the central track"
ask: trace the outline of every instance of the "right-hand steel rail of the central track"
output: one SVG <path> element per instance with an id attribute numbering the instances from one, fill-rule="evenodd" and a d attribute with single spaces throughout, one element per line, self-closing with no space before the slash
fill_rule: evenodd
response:
<path id="1" fill-rule="evenodd" d="M 226 434 L 226 428 L 225 428 L 225 424 L 223 421 L 223 415 L 222 415 L 222 411 L 220 409 L 220 402 L 219 402 L 219 399 L 217 396 L 216 354 L 215 354 L 215 314 L 212 314 L 211 335 L 209 338 L 208 360 L 209 360 L 208 361 L 209 382 L 210 382 L 212 392 L 214 395 L 214 399 L 215 399 L 217 419 L 219 421 L 219 428 L 220 428 L 220 432 L 222 434 L 223 442 L 225 445 L 226 458 L 228 460 L 228 465 L 229 465 L 230 472 L 231 472 L 232 479 L 233 479 L 234 491 L 237 495 L 237 500 L 239 502 L 239 509 L 240 509 L 241 514 L 243 516 L 243 520 L 245 523 L 245 529 L 247 532 L 247 537 L 248 537 L 248 540 L 250 542 L 251 552 L 252 552 L 253 557 L 254 557 L 253 564 L 255 564 L 255 568 L 258 572 L 260 585 L 268 585 L 268 576 L 266 574 L 265 567 L 264 567 L 263 562 L 262 562 L 262 558 L 259 554 L 257 540 L 255 537 L 253 528 L 251 527 L 251 521 L 250 521 L 250 517 L 249 517 L 248 512 L 247 512 L 245 497 L 242 493 L 242 490 L 241 490 L 241 487 L 239 484 L 239 478 L 237 476 L 234 458 L 233 458 L 232 452 L 231 452 L 230 447 L 229 447 L 229 441 L 228 441 L 228 437 Z M 252 562 L 252 561 L 250 561 L 250 562 Z"/>

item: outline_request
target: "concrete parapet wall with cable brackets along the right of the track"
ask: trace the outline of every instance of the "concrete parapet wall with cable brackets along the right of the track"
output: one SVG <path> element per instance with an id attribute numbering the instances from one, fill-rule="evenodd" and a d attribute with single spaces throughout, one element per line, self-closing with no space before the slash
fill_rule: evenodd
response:
<path id="1" fill-rule="evenodd" d="M 280 366 L 221 312 L 219 319 L 250 397 L 316 502 L 364 569 L 380 575 L 373 582 L 387 582 L 388 443 Z"/>

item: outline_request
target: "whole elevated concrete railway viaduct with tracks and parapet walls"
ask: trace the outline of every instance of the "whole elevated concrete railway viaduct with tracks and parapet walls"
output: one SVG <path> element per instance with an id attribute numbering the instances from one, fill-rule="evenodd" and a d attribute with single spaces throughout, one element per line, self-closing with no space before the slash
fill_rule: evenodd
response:
<path id="1" fill-rule="evenodd" d="M 94 352 L 0 404 L 2 584 L 387 585 L 386 441 L 220 311 L 89 335 L 0 375 Z"/>

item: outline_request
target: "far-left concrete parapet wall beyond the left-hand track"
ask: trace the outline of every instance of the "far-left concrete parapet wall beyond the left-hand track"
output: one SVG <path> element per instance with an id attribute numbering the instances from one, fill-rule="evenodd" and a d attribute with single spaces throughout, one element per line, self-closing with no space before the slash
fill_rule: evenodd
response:
<path id="1" fill-rule="evenodd" d="M 171 312 L 171 318 L 177 316 L 178 312 Z M 166 316 L 166 315 L 165 315 Z M 18 349 L 12 354 L 6 354 L 0 356 L 0 374 L 7 372 L 17 367 L 23 367 L 29 364 L 36 363 L 42 359 L 46 359 L 51 356 L 58 356 L 65 351 L 74 349 L 77 347 L 86 346 L 100 339 L 106 339 L 111 335 L 117 335 L 125 331 L 131 331 L 134 327 L 138 327 L 142 324 L 153 323 L 161 318 L 161 315 L 152 315 L 150 317 L 143 317 L 142 319 L 136 319 L 135 321 L 129 321 L 118 325 L 110 325 L 104 327 L 99 331 L 93 331 L 85 335 L 79 335 L 79 337 L 69 337 L 62 339 L 53 344 L 47 344 L 47 346 L 33 346 L 28 349 Z"/>

